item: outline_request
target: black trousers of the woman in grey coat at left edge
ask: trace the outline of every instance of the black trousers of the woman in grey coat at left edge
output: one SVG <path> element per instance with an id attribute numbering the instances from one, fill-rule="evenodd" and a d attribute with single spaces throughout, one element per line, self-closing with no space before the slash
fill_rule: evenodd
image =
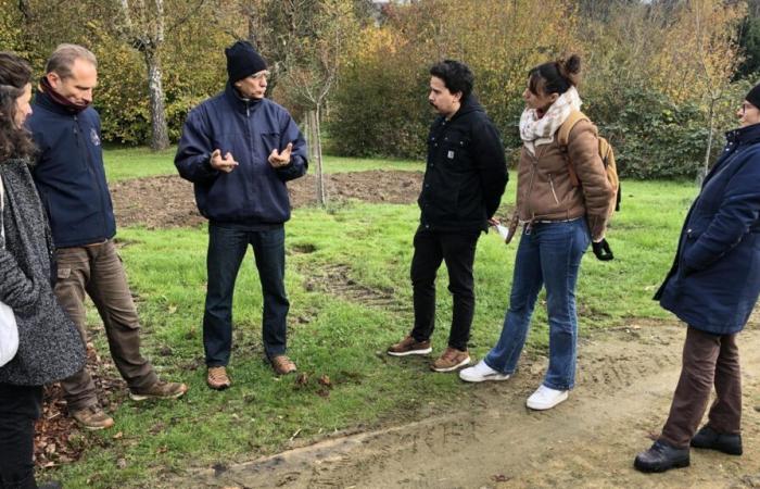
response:
<path id="1" fill-rule="evenodd" d="M 0 384 L 0 489 L 37 488 L 33 455 L 41 404 L 41 386 Z"/>

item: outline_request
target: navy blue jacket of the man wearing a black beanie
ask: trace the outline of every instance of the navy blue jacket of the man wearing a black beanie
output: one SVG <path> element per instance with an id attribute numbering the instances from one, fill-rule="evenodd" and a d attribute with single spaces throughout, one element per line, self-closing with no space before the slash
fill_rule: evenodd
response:
<path id="1" fill-rule="evenodd" d="M 267 158 L 293 143 L 291 162 L 274 168 Z M 228 151 L 238 162 L 230 173 L 213 170 L 211 153 Z M 268 99 L 248 101 L 227 84 L 188 115 L 174 160 L 194 184 L 199 211 L 216 224 L 281 224 L 290 218 L 286 181 L 306 173 L 306 141 L 287 110 Z"/>

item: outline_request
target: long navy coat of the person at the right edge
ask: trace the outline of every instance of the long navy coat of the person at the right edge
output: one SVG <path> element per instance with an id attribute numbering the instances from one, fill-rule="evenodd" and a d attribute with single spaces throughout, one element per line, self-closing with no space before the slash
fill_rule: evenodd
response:
<path id="1" fill-rule="evenodd" d="M 740 331 L 760 293 L 760 124 L 726 136 L 655 294 L 689 326 L 714 335 Z"/>

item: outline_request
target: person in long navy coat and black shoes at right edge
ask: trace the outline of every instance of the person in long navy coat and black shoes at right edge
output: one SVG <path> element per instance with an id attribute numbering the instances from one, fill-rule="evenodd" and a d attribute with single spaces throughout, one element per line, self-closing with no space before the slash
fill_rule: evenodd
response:
<path id="1" fill-rule="evenodd" d="M 688 328 L 668 421 L 660 438 L 634 462 L 642 472 L 688 466 L 689 444 L 742 454 L 736 339 L 760 293 L 760 85 L 747 93 L 737 116 L 740 127 L 726 135 L 655 296 Z M 713 385 L 715 400 L 697 431 Z"/>

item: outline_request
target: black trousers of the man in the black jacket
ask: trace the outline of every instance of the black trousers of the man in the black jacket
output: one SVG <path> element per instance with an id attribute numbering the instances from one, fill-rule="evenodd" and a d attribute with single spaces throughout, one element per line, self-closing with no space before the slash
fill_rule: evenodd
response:
<path id="1" fill-rule="evenodd" d="M 445 261 L 448 291 L 454 302 L 448 346 L 467 350 L 474 315 L 472 264 L 479 237 L 479 230 L 439 233 L 419 228 L 415 234 L 411 259 L 415 327 L 411 336 L 417 341 L 429 340 L 435 328 L 435 275 Z"/>

